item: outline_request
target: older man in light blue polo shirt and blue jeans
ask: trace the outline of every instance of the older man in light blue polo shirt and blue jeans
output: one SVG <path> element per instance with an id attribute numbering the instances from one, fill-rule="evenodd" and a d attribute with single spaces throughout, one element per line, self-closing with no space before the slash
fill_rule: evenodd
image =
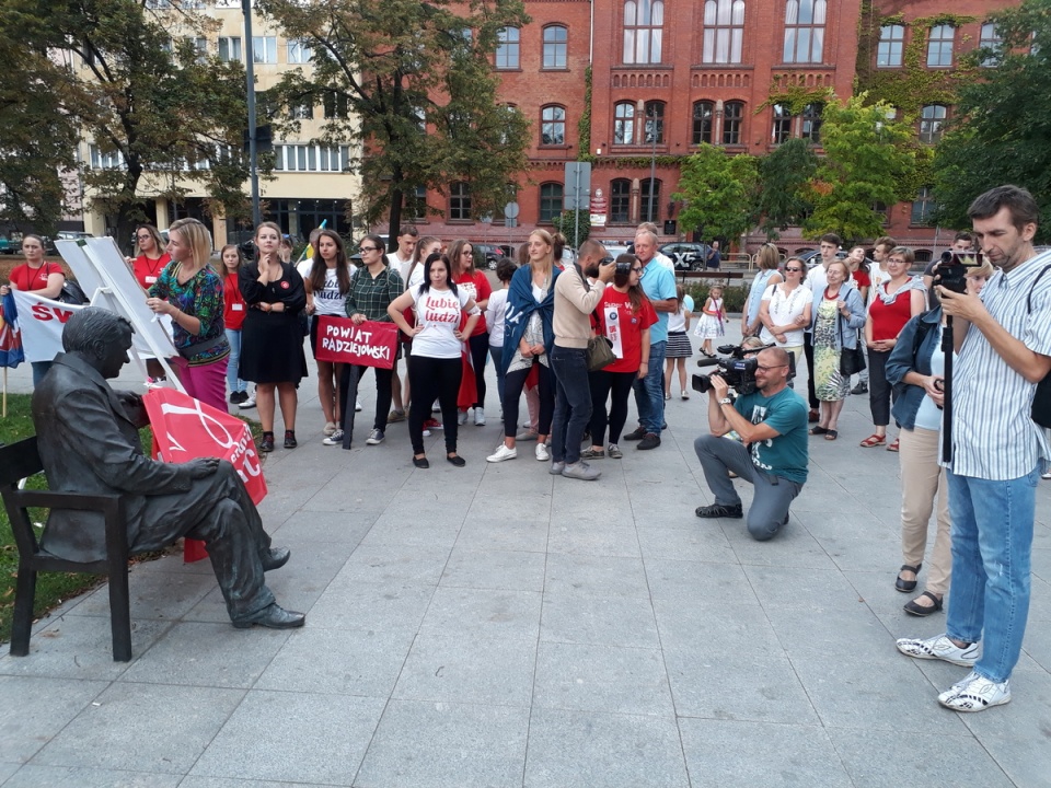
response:
<path id="1" fill-rule="evenodd" d="M 648 230 L 635 235 L 635 256 L 643 265 L 639 283 L 657 312 L 657 322 L 649 327 L 649 367 L 646 376 L 635 381 L 635 406 L 638 408 L 638 428 L 624 436 L 637 440 L 639 449 L 660 445 L 665 428 L 665 351 L 668 347 L 668 315 L 678 311 L 675 275 L 658 263 L 657 236 Z"/>

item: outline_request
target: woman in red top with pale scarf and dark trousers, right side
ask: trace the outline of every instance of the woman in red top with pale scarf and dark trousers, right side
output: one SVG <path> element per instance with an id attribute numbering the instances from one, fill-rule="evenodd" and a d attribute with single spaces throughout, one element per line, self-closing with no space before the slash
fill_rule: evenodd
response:
<path id="1" fill-rule="evenodd" d="M 873 414 L 876 431 L 862 441 L 864 449 L 887 443 L 887 425 L 890 424 L 890 405 L 898 396 L 887 381 L 887 359 L 898 343 L 898 335 L 910 318 L 923 312 L 927 305 L 923 280 L 909 274 L 915 257 L 908 246 L 896 246 L 887 258 L 890 279 L 876 288 L 873 305 L 865 321 L 865 345 L 868 347 L 868 407 Z M 899 442 L 887 447 L 898 451 Z"/>

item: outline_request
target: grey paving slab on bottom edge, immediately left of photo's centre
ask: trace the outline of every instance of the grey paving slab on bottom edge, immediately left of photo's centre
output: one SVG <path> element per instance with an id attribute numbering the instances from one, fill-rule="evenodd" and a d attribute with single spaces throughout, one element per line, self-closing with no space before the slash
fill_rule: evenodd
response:
<path id="1" fill-rule="evenodd" d="M 522 784 L 529 710 L 392 699 L 358 788 L 504 788 Z"/>

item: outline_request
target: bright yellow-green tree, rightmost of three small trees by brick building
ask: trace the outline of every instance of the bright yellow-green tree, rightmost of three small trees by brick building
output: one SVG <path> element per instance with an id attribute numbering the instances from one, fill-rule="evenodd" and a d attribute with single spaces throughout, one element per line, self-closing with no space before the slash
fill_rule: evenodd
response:
<path id="1" fill-rule="evenodd" d="M 911 199 L 916 151 L 912 128 L 893 108 L 866 94 L 845 104 L 830 102 L 822 113 L 824 158 L 810 179 L 813 213 L 804 222 L 810 236 L 834 232 L 844 239 L 871 239 L 882 232 L 877 204 Z"/>

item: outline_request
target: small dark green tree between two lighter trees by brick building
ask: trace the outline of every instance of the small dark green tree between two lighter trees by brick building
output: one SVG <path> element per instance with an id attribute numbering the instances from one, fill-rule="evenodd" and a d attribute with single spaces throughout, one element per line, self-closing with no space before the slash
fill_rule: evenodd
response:
<path id="1" fill-rule="evenodd" d="M 810 212 L 810 178 L 818 170 L 818 157 L 809 140 L 790 139 L 759 160 L 760 230 L 771 241 L 778 230 L 800 227 Z"/>

